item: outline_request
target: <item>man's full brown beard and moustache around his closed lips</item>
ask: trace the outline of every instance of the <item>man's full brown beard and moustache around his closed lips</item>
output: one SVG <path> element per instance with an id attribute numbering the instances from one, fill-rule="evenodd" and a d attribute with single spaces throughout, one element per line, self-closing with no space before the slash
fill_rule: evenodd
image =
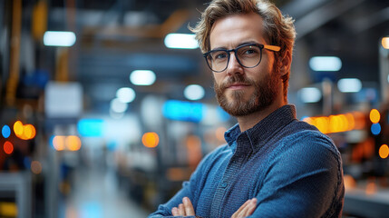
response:
<path id="1" fill-rule="evenodd" d="M 216 99 L 221 108 L 230 115 L 238 117 L 262 111 L 272 104 L 279 94 L 279 89 L 277 87 L 277 85 L 280 85 L 279 81 L 280 78 L 277 77 L 277 72 L 267 74 L 265 78 L 257 83 L 243 74 L 234 74 L 222 84 L 216 84 L 214 80 L 213 86 L 216 93 Z M 225 91 L 230 84 L 234 83 L 254 86 L 254 94 L 247 96 L 248 94 L 245 90 L 232 90 L 232 93 L 229 96 L 230 99 L 228 99 Z M 248 100 L 246 100 L 246 98 L 248 98 Z"/>

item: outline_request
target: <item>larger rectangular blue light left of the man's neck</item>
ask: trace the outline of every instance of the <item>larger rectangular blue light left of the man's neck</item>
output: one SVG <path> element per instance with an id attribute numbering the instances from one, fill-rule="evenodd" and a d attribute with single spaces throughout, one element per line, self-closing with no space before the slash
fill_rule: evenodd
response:
<path id="1" fill-rule="evenodd" d="M 205 107 L 200 103 L 169 100 L 163 104 L 162 114 L 170 120 L 199 123 L 203 117 L 203 110 Z"/>

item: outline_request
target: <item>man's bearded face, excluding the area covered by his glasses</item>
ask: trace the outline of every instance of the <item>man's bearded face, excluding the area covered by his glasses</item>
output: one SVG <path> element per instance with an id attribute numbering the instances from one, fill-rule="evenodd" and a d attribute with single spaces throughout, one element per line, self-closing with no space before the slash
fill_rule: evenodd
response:
<path id="1" fill-rule="evenodd" d="M 210 49 L 233 49 L 238 45 L 258 43 L 267 45 L 263 37 L 262 18 L 257 14 L 230 15 L 213 25 Z M 262 50 L 262 60 L 254 68 L 238 64 L 230 53 L 227 69 L 213 73 L 214 88 L 220 106 L 233 116 L 244 116 L 261 111 L 272 104 L 280 94 L 279 74 L 273 69 L 274 54 Z"/>

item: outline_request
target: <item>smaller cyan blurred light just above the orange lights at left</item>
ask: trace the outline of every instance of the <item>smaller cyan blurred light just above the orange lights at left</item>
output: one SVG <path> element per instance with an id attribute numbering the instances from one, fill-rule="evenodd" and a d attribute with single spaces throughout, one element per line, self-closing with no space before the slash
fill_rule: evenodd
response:
<path id="1" fill-rule="evenodd" d="M 104 122 L 101 119 L 81 119 L 78 124 L 78 133 L 83 137 L 100 137 Z"/>

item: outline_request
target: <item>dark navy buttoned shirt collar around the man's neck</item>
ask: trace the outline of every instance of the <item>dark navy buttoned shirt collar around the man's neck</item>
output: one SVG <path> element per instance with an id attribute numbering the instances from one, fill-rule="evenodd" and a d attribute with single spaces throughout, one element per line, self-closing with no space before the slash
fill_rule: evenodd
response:
<path id="1" fill-rule="evenodd" d="M 243 133 L 240 133 L 239 125 L 235 124 L 224 134 L 224 137 L 231 148 L 235 147 L 237 141 L 238 143 L 240 141 L 248 142 L 250 150 L 256 153 L 274 134 L 277 134 L 279 130 L 295 119 L 296 107 L 287 104 L 267 115 L 258 124 Z"/>

